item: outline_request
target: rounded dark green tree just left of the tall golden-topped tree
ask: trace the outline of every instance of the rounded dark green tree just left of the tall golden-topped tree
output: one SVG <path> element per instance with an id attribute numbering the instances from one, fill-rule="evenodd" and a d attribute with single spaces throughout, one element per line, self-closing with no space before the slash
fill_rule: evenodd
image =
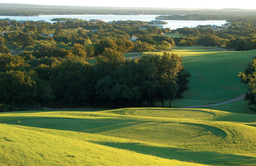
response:
<path id="1" fill-rule="evenodd" d="M 89 103 L 94 94 L 92 66 L 81 59 L 70 59 L 51 69 L 50 83 L 56 99 L 74 104 Z"/>

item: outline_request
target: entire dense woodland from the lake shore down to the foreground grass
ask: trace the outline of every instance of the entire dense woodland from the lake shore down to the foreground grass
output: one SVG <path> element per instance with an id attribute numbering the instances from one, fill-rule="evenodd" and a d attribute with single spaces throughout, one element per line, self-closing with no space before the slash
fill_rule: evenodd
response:
<path id="1" fill-rule="evenodd" d="M 233 21 L 226 30 L 214 31 L 209 26 L 170 30 L 142 21 L 74 20 L 53 24 L 0 20 L 0 30 L 7 31 L 0 36 L 2 111 L 126 103 L 154 107 L 155 101 L 164 107 L 164 100 L 171 107 L 171 100 L 188 90 L 190 74 L 182 59 L 163 52 L 131 60 L 124 53 L 166 51 L 175 45 L 256 49 L 256 30 L 250 21 Z M 170 32 L 184 36 L 163 35 Z M 132 36 L 138 39 L 130 41 Z M 87 62 L 95 57 L 95 64 Z"/>

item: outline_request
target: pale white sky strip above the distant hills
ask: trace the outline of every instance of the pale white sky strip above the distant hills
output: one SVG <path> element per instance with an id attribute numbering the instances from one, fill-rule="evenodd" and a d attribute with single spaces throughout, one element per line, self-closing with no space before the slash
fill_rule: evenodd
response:
<path id="1" fill-rule="evenodd" d="M 214 0 L 0 0 L 0 3 L 15 3 L 15 4 L 41 4 L 41 5 L 67 5 L 67 6 L 109 6 L 109 7 L 154 7 L 154 8 L 196 8 L 196 9 L 256 9 L 255 0 L 243 1 L 214 1 Z"/>

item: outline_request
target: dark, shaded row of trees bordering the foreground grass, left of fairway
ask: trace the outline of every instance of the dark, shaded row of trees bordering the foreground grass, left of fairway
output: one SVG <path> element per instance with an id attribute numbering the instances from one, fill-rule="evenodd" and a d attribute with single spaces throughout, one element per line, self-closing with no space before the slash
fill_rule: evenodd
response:
<path id="1" fill-rule="evenodd" d="M 190 74 L 175 54 L 164 52 L 126 59 L 122 52 L 105 48 L 95 65 L 83 57 L 35 58 L 0 53 L 1 110 L 39 106 L 73 107 L 181 98 Z M 170 106 L 170 105 L 169 105 Z"/>

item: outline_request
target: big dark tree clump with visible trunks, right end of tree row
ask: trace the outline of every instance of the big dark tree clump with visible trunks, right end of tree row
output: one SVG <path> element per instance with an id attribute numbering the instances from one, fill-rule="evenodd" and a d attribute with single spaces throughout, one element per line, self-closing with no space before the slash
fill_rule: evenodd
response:
<path id="1" fill-rule="evenodd" d="M 181 98 L 188 90 L 190 74 L 181 63 L 177 54 L 166 52 L 128 60 L 97 81 L 97 96 L 112 102 L 137 100 L 139 106 L 146 99 L 149 107 L 155 107 L 155 101 L 159 99 L 164 107 L 164 100 L 168 99 L 171 104 L 172 99 Z"/>

